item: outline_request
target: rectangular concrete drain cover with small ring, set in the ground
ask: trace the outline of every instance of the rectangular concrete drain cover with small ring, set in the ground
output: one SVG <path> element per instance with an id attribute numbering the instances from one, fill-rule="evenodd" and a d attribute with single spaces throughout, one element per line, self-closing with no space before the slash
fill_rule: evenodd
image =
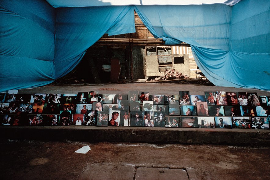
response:
<path id="1" fill-rule="evenodd" d="M 154 168 L 154 167 L 138 167 L 135 180 L 140 179 L 181 179 L 189 180 L 187 171 L 184 169 L 166 169 L 166 168 Z"/>

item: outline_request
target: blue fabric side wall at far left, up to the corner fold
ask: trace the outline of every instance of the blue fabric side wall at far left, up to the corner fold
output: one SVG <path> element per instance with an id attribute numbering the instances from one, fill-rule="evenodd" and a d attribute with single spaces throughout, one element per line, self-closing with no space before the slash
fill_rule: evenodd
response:
<path id="1" fill-rule="evenodd" d="M 0 3 L 0 92 L 54 81 L 55 9 L 42 0 Z"/>

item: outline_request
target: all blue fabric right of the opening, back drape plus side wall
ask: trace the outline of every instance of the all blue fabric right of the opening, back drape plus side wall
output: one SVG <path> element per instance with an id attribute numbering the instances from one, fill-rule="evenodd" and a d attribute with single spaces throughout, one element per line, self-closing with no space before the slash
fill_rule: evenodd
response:
<path id="1" fill-rule="evenodd" d="M 270 1 L 234 6 L 136 6 L 156 38 L 191 45 L 197 65 L 217 86 L 270 90 Z"/>

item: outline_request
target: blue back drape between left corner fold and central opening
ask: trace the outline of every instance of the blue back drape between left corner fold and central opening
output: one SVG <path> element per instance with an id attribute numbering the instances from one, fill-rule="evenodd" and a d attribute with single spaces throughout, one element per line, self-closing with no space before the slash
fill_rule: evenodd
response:
<path id="1" fill-rule="evenodd" d="M 133 6 L 59 8 L 54 63 L 56 79 L 80 62 L 86 50 L 108 35 L 135 32 Z"/>

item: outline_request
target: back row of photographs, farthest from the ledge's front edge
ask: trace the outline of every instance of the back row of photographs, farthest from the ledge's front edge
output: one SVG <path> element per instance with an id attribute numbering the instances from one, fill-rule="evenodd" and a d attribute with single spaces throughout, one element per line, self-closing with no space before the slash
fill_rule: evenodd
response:
<path id="1" fill-rule="evenodd" d="M 118 104 L 122 100 L 129 103 L 139 101 L 153 101 L 153 104 L 169 104 L 178 102 L 180 105 L 196 105 L 207 102 L 207 105 L 220 106 L 270 106 L 269 96 L 258 97 L 256 92 L 204 92 L 204 95 L 189 95 L 189 91 L 179 91 L 179 95 L 149 95 L 149 92 L 128 91 L 128 94 L 99 94 L 99 91 L 79 92 L 78 94 L 17 94 L 18 90 L 9 90 L 7 94 L 0 94 L 0 103 L 76 103 Z"/>

